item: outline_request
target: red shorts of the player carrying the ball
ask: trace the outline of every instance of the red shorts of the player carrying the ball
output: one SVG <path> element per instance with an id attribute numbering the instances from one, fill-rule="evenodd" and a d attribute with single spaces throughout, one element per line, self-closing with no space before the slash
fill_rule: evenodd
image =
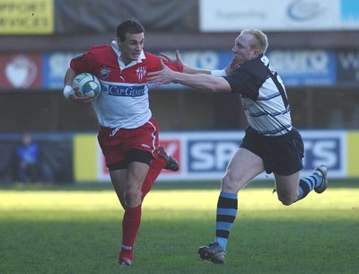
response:
<path id="1" fill-rule="evenodd" d="M 98 134 L 109 170 L 125 169 L 132 162 L 150 164 L 158 157 L 158 124 L 150 119 L 139 128 L 104 128 Z"/>

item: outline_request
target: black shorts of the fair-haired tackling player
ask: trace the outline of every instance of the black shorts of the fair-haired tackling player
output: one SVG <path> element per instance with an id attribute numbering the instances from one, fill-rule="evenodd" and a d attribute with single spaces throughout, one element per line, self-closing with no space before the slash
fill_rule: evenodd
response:
<path id="1" fill-rule="evenodd" d="M 266 137 L 253 128 L 247 128 L 241 147 L 262 158 L 266 172 L 291 175 L 302 170 L 304 145 L 302 136 L 296 128 L 285 135 Z"/>

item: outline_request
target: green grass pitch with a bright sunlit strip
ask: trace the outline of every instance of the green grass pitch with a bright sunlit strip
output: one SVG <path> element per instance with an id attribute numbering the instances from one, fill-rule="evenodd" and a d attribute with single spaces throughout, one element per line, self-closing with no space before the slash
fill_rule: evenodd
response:
<path id="1" fill-rule="evenodd" d="M 134 267 L 117 265 L 123 211 L 109 184 L 0 189 L 0 273 L 357 273 L 359 188 L 331 182 L 285 207 L 267 183 L 241 190 L 227 261 L 214 240 L 218 184 L 158 184 L 144 200 Z"/>

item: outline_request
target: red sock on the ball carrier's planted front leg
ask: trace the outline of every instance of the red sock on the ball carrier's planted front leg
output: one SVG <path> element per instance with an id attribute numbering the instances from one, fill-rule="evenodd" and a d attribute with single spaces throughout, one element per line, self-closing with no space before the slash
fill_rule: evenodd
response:
<path id="1" fill-rule="evenodd" d="M 128 258 L 132 261 L 133 248 L 141 223 L 142 205 L 136 208 L 126 208 L 122 219 L 122 246 L 118 259 Z"/>

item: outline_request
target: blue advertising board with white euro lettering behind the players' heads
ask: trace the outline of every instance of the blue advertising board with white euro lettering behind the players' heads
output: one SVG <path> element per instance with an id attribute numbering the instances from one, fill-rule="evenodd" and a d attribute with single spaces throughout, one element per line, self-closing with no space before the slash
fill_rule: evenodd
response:
<path id="1" fill-rule="evenodd" d="M 173 51 L 164 52 L 174 57 Z M 49 90 L 62 89 L 64 75 L 72 57 L 78 52 L 53 52 L 42 56 L 43 87 Z M 232 60 L 232 51 L 193 50 L 180 53 L 188 66 L 203 69 L 223 69 Z M 337 84 L 337 54 L 323 49 L 288 49 L 267 52 L 272 65 L 287 86 Z M 165 88 L 183 88 L 181 84 L 163 85 Z"/>

